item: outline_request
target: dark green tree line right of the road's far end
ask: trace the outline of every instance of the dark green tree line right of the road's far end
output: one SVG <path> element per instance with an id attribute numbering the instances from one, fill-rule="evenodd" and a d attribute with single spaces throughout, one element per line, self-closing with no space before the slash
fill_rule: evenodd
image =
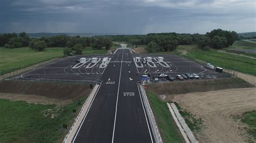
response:
<path id="1" fill-rule="evenodd" d="M 149 33 L 147 35 L 109 35 L 113 41 L 125 41 L 133 45 L 147 45 L 148 52 L 173 51 L 178 45 L 198 45 L 202 49 L 232 46 L 238 40 L 235 31 L 221 29 L 206 34 Z"/>

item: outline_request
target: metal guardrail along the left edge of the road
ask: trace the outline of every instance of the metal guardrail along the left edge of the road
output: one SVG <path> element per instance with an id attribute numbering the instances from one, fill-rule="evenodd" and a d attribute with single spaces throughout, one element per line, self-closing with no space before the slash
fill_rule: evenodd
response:
<path id="1" fill-rule="evenodd" d="M 90 99 L 90 97 L 91 96 L 93 96 L 92 94 L 93 94 L 93 91 L 97 91 L 97 89 L 99 88 L 99 85 L 98 84 L 96 84 L 94 87 L 93 87 L 93 89 L 92 89 L 92 91 L 91 91 L 91 93 L 90 93 L 90 95 L 87 97 L 87 99 L 86 99 L 86 101 L 84 102 L 84 105 L 82 106 L 82 109 L 80 110 L 80 112 L 78 113 L 78 115 L 77 115 L 77 117 L 76 117 L 76 119 L 75 119 L 75 121 L 74 121 L 74 123 L 72 124 L 72 126 L 70 127 L 70 130 L 69 130 L 69 132 L 68 132 L 68 134 L 66 134 L 66 136 L 65 136 L 65 138 L 64 138 L 64 140 L 63 140 L 63 142 L 67 142 L 68 141 L 68 139 L 70 139 L 70 138 L 73 138 L 73 137 L 70 137 L 70 134 L 72 133 L 72 131 L 73 131 L 73 129 L 74 129 L 74 127 L 76 126 L 76 124 L 78 124 L 78 119 L 80 118 L 80 116 L 82 115 L 82 113 L 84 112 L 84 109 L 85 109 L 85 106 L 86 106 L 86 104 L 88 104 L 88 101 L 89 101 L 89 99 Z M 94 93 L 95 94 L 95 93 Z M 89 103 L 90 104 L 90 103 Z M 87 112 L 87 111 L 86 111 Z M 80 125 L 79 125 L 80 126 Z M 79 126 L 78 126 L 78 128 L 79 128 Z M 72 139 L 71 139 L 72 140 Z"/>

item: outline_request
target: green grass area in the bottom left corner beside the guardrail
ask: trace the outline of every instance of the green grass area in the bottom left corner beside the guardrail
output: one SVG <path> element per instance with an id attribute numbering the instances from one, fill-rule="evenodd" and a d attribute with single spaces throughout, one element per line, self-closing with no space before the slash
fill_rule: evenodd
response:
<path id="1" fill-rule="evenodd" d="M 81 101 L 84 102 L 85 98 Z M 77 102 L 56 106 L 0 99 L 0 140 L 1 142 L 62 142 L 67 132 L 63 131 L 63 124 L 70 127 L 77 116 L 72 110 L 76 109 L 78 112 L 81 106 L 78 106 Z M 51 118 L 52 114 L 55 115 L 54 118 Z"/>

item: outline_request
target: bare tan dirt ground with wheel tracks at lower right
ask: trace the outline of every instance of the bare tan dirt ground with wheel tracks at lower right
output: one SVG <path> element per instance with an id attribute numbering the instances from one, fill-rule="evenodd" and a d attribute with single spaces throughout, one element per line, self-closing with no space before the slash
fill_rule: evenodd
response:
<path id="1" fill-rule="evenodd" d="M 246 125 L 233 117 L 256 110 L 256 88 L 226 89 L 176 95 L 183 109 L 204 120 L 204 129 L 196 133 L 199 142 L 245 142 Z"/>

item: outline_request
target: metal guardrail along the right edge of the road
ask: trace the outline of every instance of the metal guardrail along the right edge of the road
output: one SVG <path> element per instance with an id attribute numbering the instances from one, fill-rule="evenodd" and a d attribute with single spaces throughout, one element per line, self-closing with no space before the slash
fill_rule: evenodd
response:
<path id="1" fill-rule="evenodd" d="M 140 91 L 142 92 L 143 102 L 145 104 L 147 116 L 149 117 L 150 125 L 151 125 L 151 128 L 153 130 L 154 139 L 157 143 L 162 143 L 163 140 L 161 139 L 161 135 L 158 131 L 156 120 L 154 120 L 154 115 L 153 115 L 153 112 L 150 108 L 150 103 L 149 103 L 149 100 L 147 99 L 144 87 L 143 87 L 143 85 L 139 85 L 139 87 L 140 87 Z"/>

